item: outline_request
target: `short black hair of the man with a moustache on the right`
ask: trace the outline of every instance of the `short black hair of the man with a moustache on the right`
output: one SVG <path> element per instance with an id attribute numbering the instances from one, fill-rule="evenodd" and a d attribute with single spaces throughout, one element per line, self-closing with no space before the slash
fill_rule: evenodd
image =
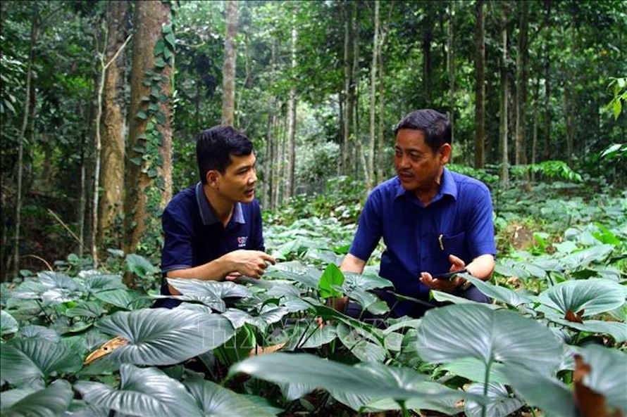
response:
<path id="1" fill-rule="evenodd" d="M 422 131 L 426 145 L 434 153 L 445 143 L 451 143 L 451 122 L 448 117 L 430 108 L 415 110 L 403 117 L 394 129 L 395 136 L 400 129 Z"/>

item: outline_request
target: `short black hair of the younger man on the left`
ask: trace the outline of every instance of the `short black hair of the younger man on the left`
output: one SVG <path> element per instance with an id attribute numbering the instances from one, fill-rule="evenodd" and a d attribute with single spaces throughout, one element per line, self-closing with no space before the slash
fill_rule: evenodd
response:
<path id="1" fill-rule="evenodd" d="M 231 155 L 250 155 L 252 148 L 250 139 L 232 126 L 214 126 L 202 131 L 196 141 L 196 158 L 202 184 L 206 184 L 207 172 L 211 169 L 224 174 L 231 165 Z"/>

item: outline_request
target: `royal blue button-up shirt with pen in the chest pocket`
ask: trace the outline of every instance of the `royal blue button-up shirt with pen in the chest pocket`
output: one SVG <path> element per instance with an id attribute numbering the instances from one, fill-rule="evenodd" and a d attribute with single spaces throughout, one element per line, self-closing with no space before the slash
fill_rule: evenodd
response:
<path id="1" fill-rule="evenodd" d="M 420 273 L 448 272 L 449 255 L 466 264 L 480 255 L 496 255 L 492 200 L 481 181 L 444 169 L 440 190 L 427 207 L 398 177 L 377 186 L 366 200 L 349 253 L 367 261 L 383 237 L 379 275 L 392 281 L 402 295 L 428 300 L 429 288 Z M 413 315 L 413 302 L 399 302 L 396 316 Z"/>

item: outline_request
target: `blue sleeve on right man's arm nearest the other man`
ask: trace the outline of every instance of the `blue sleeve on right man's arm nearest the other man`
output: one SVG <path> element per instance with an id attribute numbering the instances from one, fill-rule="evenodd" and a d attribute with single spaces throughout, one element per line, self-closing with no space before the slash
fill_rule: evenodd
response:
<path id="1" fill-rule="evenodd" d="M 349 253 L 364 262 L 368 261 L 383 235 L 381 212 L 383 199 L 378 191 L 373 191 L 366 199 L 364 210 L 359 215 L 359 226 L 353 238 Z"/>

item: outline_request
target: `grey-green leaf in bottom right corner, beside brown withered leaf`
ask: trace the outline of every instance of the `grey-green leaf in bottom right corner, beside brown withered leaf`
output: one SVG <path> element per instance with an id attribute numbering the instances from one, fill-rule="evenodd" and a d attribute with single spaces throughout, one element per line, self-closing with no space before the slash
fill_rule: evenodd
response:
<path id="1" fill-rule="evenodd" d="M 607 404 L 627 413 L 627 354 L 600 345 L 588 345 L 581 349 L 590 373 L 583 377 L 586 385 L 607 399 Z"/>

